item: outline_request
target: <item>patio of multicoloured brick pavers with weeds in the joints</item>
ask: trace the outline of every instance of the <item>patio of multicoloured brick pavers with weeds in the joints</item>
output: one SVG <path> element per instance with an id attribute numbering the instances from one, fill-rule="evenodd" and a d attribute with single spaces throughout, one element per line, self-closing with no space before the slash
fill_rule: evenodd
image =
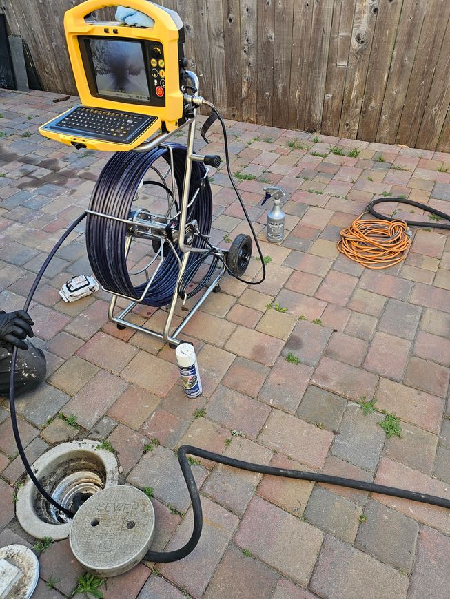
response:
<path id="1" fill-rule="evenodd" d="M 5 310 L 23 306 L 45 253 L 88 206 L 108 158 L 37 134 L 40 123 L 74 102 L 54 104 L 54 97 L 0 92 Z M 279 246 L 262 242 L 272 258 L 265 283 L 250 288 L 224 277 L 222 292 L 186 328 L 183 337 L 198 353 L 203 397 L 183 395 L 172 350 L 108 323 L 107 294 L 74 304 L 60 299 L 65 280 L 90 273 L 79 227 L 31 309 L 48 382 L 17 401 L 29 458 L 74 437 L 108 439 L 121 463 L 121 482 L 154 489 L 159 550 L 179 547 L 192 526 L 174 454 L 185 442 L 449 497 L 449 235 L 430 221 L 430 229 L 414 231 L 405 262 L 385 271 L 347 260 L 336 241 L 375 195 L 404 195 L 448 212 L 450 155 L 231 121 L 227 126 L 233 172 L 255 177 L 238 187 L 260 239 L 267 183 L 287 192 L 288 235 Z M 218 129 L 210 140 L 208 152 L 223 155 Z M 344 154 L 331 153 L 334 145 Z M 246 229 L 224 169 L 212 175 L 212 188 L 213 238 L 226 246 L 227 237 Z M 387 207 L 389 213 L 396 209 Z M 397 214 L 405 216 L 401 209 Z M 247 272 L 256 277 L 260 266 L 252 260 Z M 285 311 L 267 307 L 273 300 Z M 148 319 L 161 324 L 161 311 L 136 311 L 135 322 Z M 288 353 L 300 364 L 287 361 Z M 376 411 L 363 414 L 363 397 L 376 399 Z M 387 438 L 379 425 L 382 410 L 400 417 L 401 439 Z M 57 414 L 76 415 L 79 430 Z M 14 518 L 13 485 L 23 467 L 6 399 L 0 417 L 1 545 L 33 545 Z M 143 454 L 154 437 L 159 445 Z M 204 510 L 198 547 L 179 563 L 141 564 L 108 580 L 105 597 L 449 596 L 450 512 L 444 509 L 211 463 L 194 465 L 194 471 Z M 35 597 L 70 596 L 83 570 L 68 540 L 54 543 L 39 560 Z M 45 585 L 50 578 L 59 580 L 56 589 Z"/>

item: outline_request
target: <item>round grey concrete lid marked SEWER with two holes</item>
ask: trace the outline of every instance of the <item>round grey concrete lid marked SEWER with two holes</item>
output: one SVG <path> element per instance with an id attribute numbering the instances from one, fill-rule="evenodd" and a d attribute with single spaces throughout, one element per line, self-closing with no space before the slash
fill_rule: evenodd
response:
<path id="1" fill-rule="evenodd" d="M 76 512 L 70 549 L 85 568 L 118 576 L 137 565 L 150 547 L 154 509 L 136 487 L 119 486 L 92 495 Z"/>

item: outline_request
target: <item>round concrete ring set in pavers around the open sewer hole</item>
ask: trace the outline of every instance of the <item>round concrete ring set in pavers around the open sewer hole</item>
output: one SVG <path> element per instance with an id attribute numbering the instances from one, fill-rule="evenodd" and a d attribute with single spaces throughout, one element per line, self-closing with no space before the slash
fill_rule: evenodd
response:
<path id="1" fill-rule="evenodd" d="M 76 493 L 92 495 L 116 486 L 119 479 L 114 454 L 92 439 L 61 443 L 42 454 L 32 469 L 45 490 L 68 509 Z M 72 522 L 41 496 L 29 476 L 17 493 L 16 514 L 21 527 L 35 538 L 69 536 Z"/>

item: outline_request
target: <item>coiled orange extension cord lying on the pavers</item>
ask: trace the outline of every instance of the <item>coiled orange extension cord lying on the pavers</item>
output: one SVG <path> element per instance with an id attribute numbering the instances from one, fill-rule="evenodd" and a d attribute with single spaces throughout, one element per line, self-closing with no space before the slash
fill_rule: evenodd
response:
<path id="1" fill-rule="evenodd" d="M 387 269 L 402 262 L 411 245 L 406 222 L 364 219 L 364 215 L 340 231 L 338 250 L 367 269 Z"/>

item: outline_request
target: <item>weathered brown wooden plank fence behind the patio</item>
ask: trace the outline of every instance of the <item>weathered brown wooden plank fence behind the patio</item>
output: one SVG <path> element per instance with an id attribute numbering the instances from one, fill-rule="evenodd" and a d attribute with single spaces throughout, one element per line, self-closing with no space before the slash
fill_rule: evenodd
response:
<path id="1" fill-rule="evenodd" d="M 2 0 L 45 90 L 75 93 L 63 13 Z M 126 3 L 126 1 L 125 1 Z M 263 125 L 450 151 L 450 0 L 162 0 L 201 93 Z"/>

